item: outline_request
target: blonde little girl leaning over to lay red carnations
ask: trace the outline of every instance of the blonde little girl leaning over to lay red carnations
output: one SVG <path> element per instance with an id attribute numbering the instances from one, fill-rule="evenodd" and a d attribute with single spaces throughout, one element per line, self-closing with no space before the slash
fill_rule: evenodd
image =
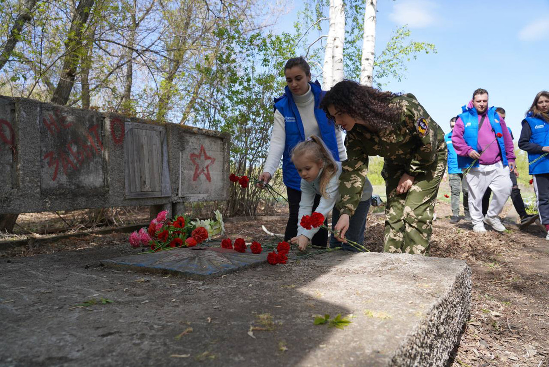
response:
<path id="1" fill-rule="evenodd" d="M 306 141 L 299 143 L 292 151 L 292 162 L 301 176 L 301 202 L 299 203 L 298 215 L 298 235 L 290 240 L 297 243 L 301 251 L 305 251 L 311 238 L 320 229 L 320 227 L 310 230 L 301 226 L 300 221 L 304 215 L 311 215 L 315 196 L 320 194 L 322 197 L 316 208 L 316 212 L 322 213 L 324 218 L 335 203 L 339 201 L 339 175 L 341 175 L 341 163 L 337 162 L 332 153 L 326 147 L 321 138 L 312 135 Z M 360 205 L 355 215 L 351 217 L 349 230 L 346 237 L 349 240 L 362 243 L 364 241 L 364 230 L 366 227 L 366 216 L 370 207 L 372 198 L 372 185 L 366 179 Z M 334 209 L 333 223 L 339 219 L 339 210 Z M 333 225 L 332 225 L 333 229 Z M 330 247 L 343 246 L 343 249 L 356 251 L 356 249 L 347 243 L 335 240 L 330 236 Z"/>

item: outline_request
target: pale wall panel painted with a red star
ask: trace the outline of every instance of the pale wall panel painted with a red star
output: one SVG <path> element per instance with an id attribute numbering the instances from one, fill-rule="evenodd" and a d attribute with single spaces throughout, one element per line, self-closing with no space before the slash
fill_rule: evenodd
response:
<path id="1" fill-rule="evenodd" d="M 228 180 L 223 175 L 223 158 L 221 138 L 187 140 L 180 152 L 179 196 L 219 196 Z"/>

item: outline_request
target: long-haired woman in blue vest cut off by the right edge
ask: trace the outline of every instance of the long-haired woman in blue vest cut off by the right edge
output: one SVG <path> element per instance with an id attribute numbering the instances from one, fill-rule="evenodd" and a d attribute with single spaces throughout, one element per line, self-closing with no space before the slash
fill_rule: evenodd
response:
<path id="1" fill-rule="evenodd" d="M 549 241 L 549 92 L 536 94 L 522 120 L 518 147 L 528 153 L 528 173 L 534 175 L 537 212 L 545 226 Z M 535 162 L 534 162 L 535 160 Z"/>

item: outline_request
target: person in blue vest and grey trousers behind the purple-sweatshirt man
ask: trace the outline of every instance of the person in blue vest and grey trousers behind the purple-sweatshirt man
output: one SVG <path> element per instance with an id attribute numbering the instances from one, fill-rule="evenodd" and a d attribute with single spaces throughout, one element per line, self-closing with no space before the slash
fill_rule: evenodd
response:
<path id="1" fill-rule="evenodd" d="M 469 215 L 467 184 L 463 180 L 461 169 L 457 166 L 457 154 L 452 146 L 452 131 L 453 126 L 456 125 L 456 119 L 457 117 L 452 117 L 452 119 L 450 119 L 450 132 L 444 136 L 444 141 L 448 147 L 448 177 L 450 180 L 450 203 L 452 207 L 450 223 L 458 223 L 458 221 L 460 221 L 460 192 L 463 192 L 464 219 L 471 220 L 471 216 Z M 443 179 L 446 179 L 446 175 Z"/>

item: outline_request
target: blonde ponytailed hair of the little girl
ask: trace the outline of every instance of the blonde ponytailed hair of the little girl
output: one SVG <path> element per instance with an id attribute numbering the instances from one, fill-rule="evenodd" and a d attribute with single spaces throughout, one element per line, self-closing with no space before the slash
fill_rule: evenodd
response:
<path id="1" fill-rule="evenodd" d="M 297 144 L 292 149 L 292 160 L 294 157 L 307 155 L 311 160 L 318 162 L 322 160 L 323 170 L 320 177 L 320 193 L 326 197 L 326 188 L 332 177 L 338 172 L 338 165 L 335 162 L 332 152 L 328 149 L 322 139 L 316 135 L 311 135 L 304 142 Z"/>

